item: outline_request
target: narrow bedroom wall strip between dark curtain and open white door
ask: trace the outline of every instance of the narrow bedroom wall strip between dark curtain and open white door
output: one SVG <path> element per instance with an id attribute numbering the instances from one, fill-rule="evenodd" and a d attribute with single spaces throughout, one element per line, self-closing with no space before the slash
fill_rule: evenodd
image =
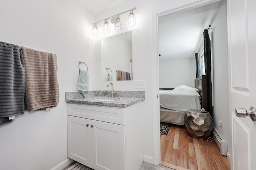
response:
<path id="1" fill-rule="evenodd" d="M 220 9 L 212 23 L 213 27 L 213 82 L 214 82 L 214 127 L 230 144 L 228 109 L 228 36 L 227 4 L 222 0 Z M 222 120 L 222 127 L 218 121 Z M 228 145 L 228 147 L 231 146 Z M 231 148 L 228 148 L 230 150 Z"/>

